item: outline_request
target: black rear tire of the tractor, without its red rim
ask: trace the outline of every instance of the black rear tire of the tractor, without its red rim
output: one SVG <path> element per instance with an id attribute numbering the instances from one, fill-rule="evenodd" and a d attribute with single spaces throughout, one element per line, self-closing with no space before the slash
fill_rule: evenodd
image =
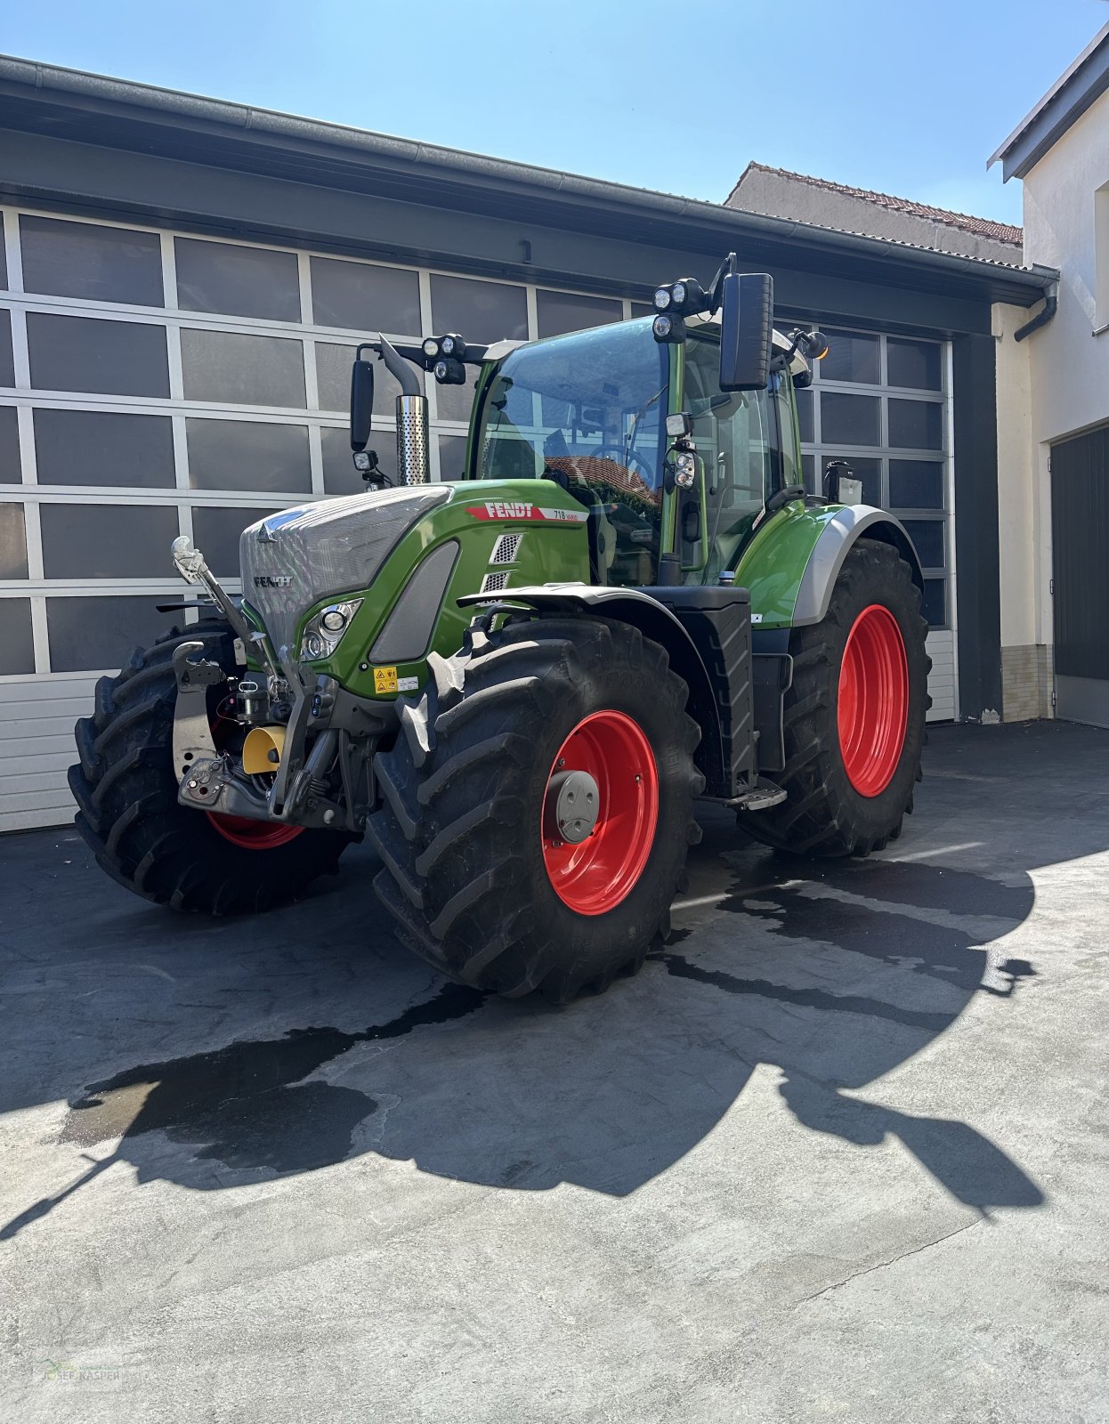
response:
<path id="1" fill-rule="evenodd" d="M 908 664 L 908 718 L 897 769 L 877 796 L 861 796 L 847 778 L 839 735 L 839 685 L 847 637 L 858 614 L 881 604 L 897 619 Z M 924 716 L 931 705 L 924 649 L 928 625 L 920 612 L 913 570 L 897 550 L 860 540 L 844 560 L 827 617 L 790 637 L 793 686 L 786 693 L 786 769 L 774 780 L 787 799 L 740 812 L 746 832 L 779 850 L 804 856 L 866 856 L 901 834 L 921 779 Z"/>

